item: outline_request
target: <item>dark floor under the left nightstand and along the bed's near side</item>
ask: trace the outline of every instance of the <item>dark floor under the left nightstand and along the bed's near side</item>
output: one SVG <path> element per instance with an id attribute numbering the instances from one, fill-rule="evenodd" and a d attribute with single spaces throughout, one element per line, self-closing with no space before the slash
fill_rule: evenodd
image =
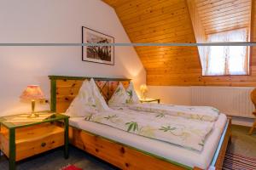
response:
<path id="1" fill-rule="evenodd" d="M 61 167 L 66 167 L 68 164 L 81 167 L 86 170 L 114 170 L 117 169 L 97 159 L 94 156 L 86 154 L 84 151 L 70 147 L 70 156 L 66 160 L 63 156 L 61 148 L 49 151 L 39 156 L 20 161 L 17 163 L 17 170 L 59 170 Z M 0 158 L 0 170 L 8 170 L 9 162 L 5 156 Z"/>

